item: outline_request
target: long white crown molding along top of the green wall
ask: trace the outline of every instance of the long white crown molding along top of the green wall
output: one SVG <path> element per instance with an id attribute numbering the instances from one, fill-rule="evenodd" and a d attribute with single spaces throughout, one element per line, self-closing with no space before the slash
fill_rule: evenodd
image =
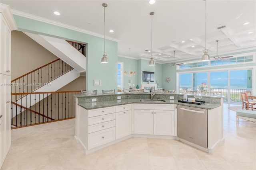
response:
<path id="1" fill-rule="evenodd" d="M 25 12 L 21 12 L 21 11 L 17 11 L 17 10 L 11 10 L 11 11 L 12 11 L 12 14 L 17 15 L 17 16 L 30 18 L 32 20 L 41 21 L 41 22 L 44 22 L 44 23 L 49 23 L 49 24 L 56 25 L 56 26 L 59 26 L 59 27 L 64 27 L 64 28 L 67 28 L 67 29 L 71 29 L 71 30 L 74 30 L 74 31 L 81 32 L 81 33 L 86 33 L 86 34 L 93 35 L 93 36 L 96 36 L 96 37 L 104 38 L 104 35 L 101 35 L 99 33 L 94 33 L 92 31 L 88 31 L 88 30 L 85 30 L 85 29 L 74 27 L 74 26 L 64 24 L 64 23 L 61 23 L 61 22 L 48 20 L 46 18 L 42 18 L 42 17 L 39 17 L 39 16 L 34 16 L 32 14 L 28 14 L 28 13 L 25 13 Z M 111 41 L 116 41 L 116 42 L 119 41 L 119 39 L 115 39 L 115 38 L 108 37 L 108 36 L 106 36 L 105 38 L 108 39 L 108 40 L 111 40 Z"/>

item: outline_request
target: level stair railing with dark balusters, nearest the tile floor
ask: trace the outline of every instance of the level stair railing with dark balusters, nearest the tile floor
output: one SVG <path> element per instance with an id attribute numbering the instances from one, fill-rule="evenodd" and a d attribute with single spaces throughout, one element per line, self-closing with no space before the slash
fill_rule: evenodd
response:
<path id="1" fill-rule="evenodd" d="M 75 94 L 81 91 L 12 93 L 12 129 L 74 118 Z M 38 102 L 31 106 L 32 100 Z"/>

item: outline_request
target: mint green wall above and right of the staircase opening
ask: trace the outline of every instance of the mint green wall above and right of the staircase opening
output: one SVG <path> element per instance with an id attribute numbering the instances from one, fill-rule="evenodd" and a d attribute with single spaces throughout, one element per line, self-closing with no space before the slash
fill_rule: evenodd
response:
<path id="1" fill-rule="evenodd" d="M 103 38 L 22 16 L 14 15 L 14 19 L 19 31 L 86 43 L 86 90 L 97 89 L 98 93 L 101 93 L 101 90 L 117 89 L 117 42 L 106 39 L 106 54 L 109 63 L 102 64 Z M 101 80 L 101 86 L 93 86 L 94 79 Z"/>

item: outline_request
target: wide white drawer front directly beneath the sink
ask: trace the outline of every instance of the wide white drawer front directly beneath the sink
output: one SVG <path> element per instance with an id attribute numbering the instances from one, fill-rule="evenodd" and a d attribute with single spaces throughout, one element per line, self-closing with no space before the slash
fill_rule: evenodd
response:
<path id="1" fill-rule="evenodd" d="M 134 109 L 174 110 L 174 104 L 134 104 Z"/>

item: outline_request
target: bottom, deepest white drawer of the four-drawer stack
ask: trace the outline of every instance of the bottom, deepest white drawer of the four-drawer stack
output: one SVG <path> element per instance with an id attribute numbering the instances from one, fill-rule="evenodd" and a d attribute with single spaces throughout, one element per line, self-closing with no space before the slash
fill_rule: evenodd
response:
<path id="1" fill-rule="evenodd" d="M 116 127 L 88 134 L 88 149 L 116 140 Z"/>

